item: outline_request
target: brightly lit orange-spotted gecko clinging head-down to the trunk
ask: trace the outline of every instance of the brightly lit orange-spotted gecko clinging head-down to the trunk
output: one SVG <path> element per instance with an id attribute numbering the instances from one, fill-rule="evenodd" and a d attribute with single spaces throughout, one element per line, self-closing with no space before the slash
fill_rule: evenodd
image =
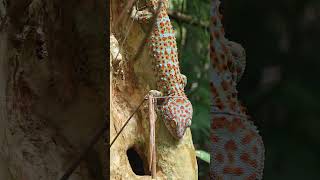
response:
<path id="1" fill-rule="evenodd" d="M 192 104 L 184 93 L 187 78 L 180 73 L 175 32 L 172 28 L 167 9 L 168 0 L 146 0 L 148 11 L 138 12 L 135 17 L 148 22 L 157 15 L 155 26 L 148 39 L 153 69 L 156 74 L 157 90 L 163 96 L 179 96 L 164 99 L 159 107 L 160 114 L 171 135 L 181 139 L 188 127 L 191 126 Z"/>

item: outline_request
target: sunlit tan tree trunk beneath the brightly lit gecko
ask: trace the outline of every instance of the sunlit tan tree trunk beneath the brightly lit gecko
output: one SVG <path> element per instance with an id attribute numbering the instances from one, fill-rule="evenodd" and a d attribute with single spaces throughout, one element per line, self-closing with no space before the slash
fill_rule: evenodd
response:
<path id="1" fill-rule="evenodd" d="M 149 90 L 155 88 L 149 48 L 145 47 L 136 62 L 145 32 L 137 22 L 128 18 L 128 1 L 111 1 L 111 122 L 110 138 L 116 136 L 128 117 L 135 111 Z M 120 14 L 125 11 L 122 19 Z M 115 22 L 119 22 L 114 27 Z M 147 26 L 147 25 L 145 25 Z M 128 35 L 126 35 L 128 34 Z M 124 41 L 126 39 L 126 41 Z M 123 46 L 122 46 L 123 44 Z M 119 52 L 120 51 L 120 52 Z M 118 53 L 119 52 L 119 53 Z M 145 102 L 111 147 L 111 179 L 150 179 L 148 103 Z M 133 148 L 143 161 L 144 175 L 137 175 L 130 166 L 127 150 Z M 156 122 L 156 151 L 158 179 L 198 179 L 198 167 L 191 131 L 179 142 L 170 135 L 162 120 Z"/>

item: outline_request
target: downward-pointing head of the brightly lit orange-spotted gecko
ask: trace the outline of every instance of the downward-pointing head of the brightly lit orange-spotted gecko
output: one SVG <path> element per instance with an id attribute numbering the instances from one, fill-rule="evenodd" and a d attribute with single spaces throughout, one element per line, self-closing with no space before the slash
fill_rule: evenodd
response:
<path id="1" fill-rule="evenodd" d="M 162 106 L 164 123 L 176 139 L 181 139 L 191 126 L 192 113 L 192 104 L 186 97 L 169 98 Z"/>

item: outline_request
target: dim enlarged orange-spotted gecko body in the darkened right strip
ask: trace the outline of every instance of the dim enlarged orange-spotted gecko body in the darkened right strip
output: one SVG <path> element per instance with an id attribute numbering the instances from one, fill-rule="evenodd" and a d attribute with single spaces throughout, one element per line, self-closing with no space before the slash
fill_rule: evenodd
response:
<path id="1" fill-rule="evenodd" d="M 241 45 L 224 37 L 219 5 L 218 0 L 212 0 L 210 179 L 261 180 L 262 138 L 237 98 L 236 85 L 245 69 L 245 52 Z"/>

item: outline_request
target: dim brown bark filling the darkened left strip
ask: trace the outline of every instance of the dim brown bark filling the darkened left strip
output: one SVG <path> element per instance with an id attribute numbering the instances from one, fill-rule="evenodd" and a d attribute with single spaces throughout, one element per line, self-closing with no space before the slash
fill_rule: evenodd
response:
<path id="1" fill-rule="evenodd" d="M 57 180 L 103 125 L 105 2 L 0 4 L 0 179 Z M 70 179 L 103 179 L 104 148 Z"/>

